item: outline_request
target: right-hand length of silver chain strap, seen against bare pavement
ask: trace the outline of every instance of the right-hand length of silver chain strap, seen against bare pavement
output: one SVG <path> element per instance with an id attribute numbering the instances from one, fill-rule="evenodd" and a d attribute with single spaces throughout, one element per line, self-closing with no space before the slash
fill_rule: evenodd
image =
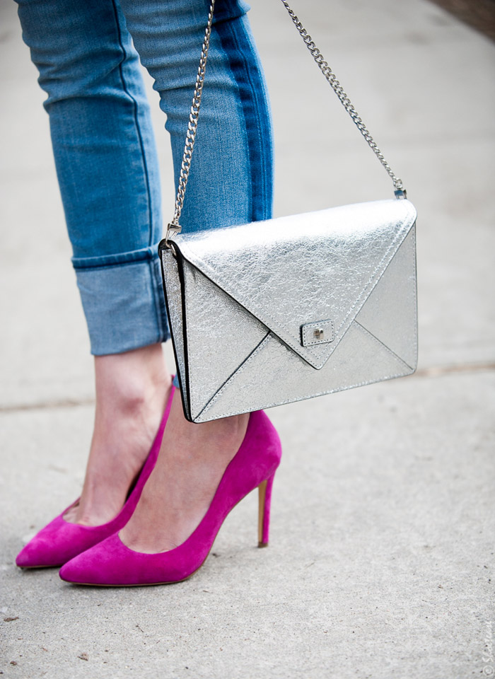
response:
<path id="1" fill-rule="evenodd" d="M 402 183 L 402 180 L 400 180 L 395 173 L 392 172 L 392 168 L 390 168 L 390 165 L 388 164 L 387 161 L 385 161 L 385 157 L 383 156 L 383 153 L 378 149 L 378 146 L 371 137 L 371 134 L 366 127 L 366 125 L 363 123 L 361 120 L 361 117 L 359 116 L 358 112 L 354 108 L 354 105 L 352 105 L 351 100 L 347 96 L 347 94 L 344 92 L 344 89 L 342 88 L 342 85 L 339 83 L 337 80 L 337 76 L 335 76 L 334 72 L 328 65 L 328 63 L 323 59 L 323 55 L 318 50 L 318 47 L 316 47 L 315 43 L 313 42 L 311 36 L 308 34 L 308 31 L 304 28 L 303 24 L 301 21 L 299 21 L 298 17 L 296 14 L 293 12 L 291 7 L 289 6 L 289 3 L 287 0 L 281 0 L 281 3 L 284 5 L 286 10 L 289 12 L 289 15 L 291 16 L 291 19 L 296 26 L 297 30 L 301 34 L 301 37 L 303 38 L 306 47 L 308 47 L 308 50 L 310 53 L 313 55 L 313 59 L 315 59 L 315 62 L 318 64 L 320 71 L 322 71 L 322 74 L 325 76 L 327 79 L 328 83 L 330 84 L 330 87 L 334 91 L 334 93 L 337 95 L 337 97 L 340 100 L 340 103 L 344 106 L 345 110 L 349 113 L 351 116 L 351 119 L 354 121 L 356 124 L 356 127 L 359 129 L 359 132 L 363 135 L 364 139 L 368 142 L 368 146 L 370 149 L 375 153 L 375 156 L 378 158 L 380 163 L 382 163 L 383 167 L 387 171 L 390 179 L 392 180 L 395 190 L 398 192 L 404 192 L 404 185 Z"/>

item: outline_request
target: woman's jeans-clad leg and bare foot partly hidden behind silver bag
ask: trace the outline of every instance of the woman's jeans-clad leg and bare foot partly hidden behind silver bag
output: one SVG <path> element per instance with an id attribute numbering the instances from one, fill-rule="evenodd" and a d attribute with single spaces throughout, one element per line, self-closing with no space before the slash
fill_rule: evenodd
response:
<path id="1" fill-rule="evenodd" d="M 141 61 L 155 79 L 172 139 L 176 180 L 209 0 L 120 0 Z M 185 231 L 267 219 L 272 135 L 267 93 L 245 6 L 217 1 L 197 140 L 181 224 Z M 245 435 L 248 415 L 190 424 L 173 402 L 158 463 L 120 532 L 140 552 L 183 542 L 208 509 Z"/>

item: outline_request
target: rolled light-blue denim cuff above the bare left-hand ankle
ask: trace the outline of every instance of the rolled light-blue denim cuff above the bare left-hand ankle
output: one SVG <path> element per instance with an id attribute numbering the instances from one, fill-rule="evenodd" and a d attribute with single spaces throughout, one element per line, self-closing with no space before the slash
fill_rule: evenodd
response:
<path id="1" fill-rule="evenodd" d="M 72 262 L 91 354 L 122 354 L 170 338 L 158 245 L 107 257 L 74 257 Z"/>

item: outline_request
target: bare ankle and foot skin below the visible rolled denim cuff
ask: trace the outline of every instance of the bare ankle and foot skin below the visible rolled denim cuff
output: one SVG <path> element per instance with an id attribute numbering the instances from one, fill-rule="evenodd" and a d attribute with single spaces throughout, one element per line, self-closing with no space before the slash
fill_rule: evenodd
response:
<path id="1" fill-rule="evenodd" d="M 95 426 L 81 499 L 70 523 L 100 526 L 117 516 L 158 431 L 171 378 L 161 344 L 95 356 Z"/>

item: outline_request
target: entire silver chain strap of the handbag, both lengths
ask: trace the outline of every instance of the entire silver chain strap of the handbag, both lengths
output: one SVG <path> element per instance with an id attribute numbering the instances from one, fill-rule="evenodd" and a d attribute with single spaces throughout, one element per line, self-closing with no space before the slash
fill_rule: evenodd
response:
<path id="1" fill-rule="evenodd" d="M 318 67 L 320 68 L 320 71 L 322 71 L 322 74 L 325 76 L 327 79 L 328 83 L 332 87 L 332 90 L 334 93 L 337 95 L 337 97 L 340 100 L 340 103 L 344 106 L 345 110 L 349 113 L 351 119 L 354 121 L 356 124 L 356 127 L 359 129 L 359 132 L 363 135 L 364 139 L 368 142 L 368 146 L 370 149 L 375 153 L 375 156 L 378 158 L 380 163 L 382 163 L 383 167 L 387 171 L 390 179 L 393 182 L 393 185 L 395 187 L 395 195 L 398 198 L 404 198 L 406 197 L 406 190 L 404 189 L 404 185 L 402 183 L 402 180 L 400 180 L 395 173 L 392 172 L 392 168 L 390 168 L 390 165 L 388 164 L 387 161 L 385 161 L 385 157 L 383 156 L 383 153 L 378 149 L 378 146 L 371 137 L 371 134 L 366 127 L 366 125 L 363 123 L 361 120 L 361 117 L 359 117 L 358 112 L 354 108 L 354 105 L 352 105 L 351 100 L 347 96 L 347 94 L 344 92 L 341 84 L 337 80 L 337 76 L 335 76 L 334 72 L 330 68 L 330 66 L 327 64 L 325 59 L 323 59 L 322 53 L 320 50 L 318 50 L 318 47 L 316 47 L 315 43 L 313 42 L 311 36 L 308 34 L 308 31 L 304 28 L 302 25 L 301 21 L 297 18 L 296 14 L 293 12 L 291 7 L 289 6 L 289 3 L 286 0 L 281 0 L 281 3 L 284 5 L 286 10 L 289 12 L 289 15 L 291 16 L 291 19 L 296 26 L 297 30 L 301 34 L 301 37 L 303 38 L 306 47 L 308 47 L 308 50 L 310 53 L 313 55 L 313 59 L 315 59 L 315 62 L 318 64 Z M 199 107 L 201 105 L 201 96 L 202 96 L 202 91 L 203 91 L 203 85 L 204 85 L 204 74 L 206 71 L 206 59 L 208 59 L 208 50 L 209 50 L 209 44 L 210 44 L 210 37 L 211 37 L 211 23 L 213 21 L 213 13 L 214 13 L 214 8 L 215 8 L 215 0 L 211 0 L 210 8 L 209 8 L 209 15 L 208 15 L 208 23 L 206 25 L 206 30 L 204 32 L 204 40 L 203 40 L 203 47 L 201 51 L 201 57 L 199 59 L 199 67 L 198 67 L 198 73 L 196 77 L 196 85 L 194 87 L 194 95 L 192 98 L 192 105 L 191 105 L 191 111 L 189 115 L 189 124 L 187 125 L 187 134 L 186 134 L 186 141 L 185 141 L 185 146 L 184 146 L 184 155 L 182 156 L 182 165 L 180 166 L 180 176 L 179 176 L 179 186 L 177 188 L 177 198 L 175 199 L 175 211 L 174 211 L 174 216 L 170 224 L 167 226 L 167 231 L 165 233 L 165 244 L 168 245 L 169 243 L 169 238 L 173 233 L 180 233 L 181 226 L 179 224 L 179 219 L 180 219 L 180 213 L 182 212 L 182 207 L 184 205 L 184 197 L 185 197 L 185 190 L 187 186 L 187 179 L 189 178 L 189 173 L 191 169 L 191 159 L 192 159 L 192 151 L 194 149 L 194 140 L 196 139 L 196 132 L 197 132 L 197 125 L 198 125 L 198 118 L 199 118 Z"/>

